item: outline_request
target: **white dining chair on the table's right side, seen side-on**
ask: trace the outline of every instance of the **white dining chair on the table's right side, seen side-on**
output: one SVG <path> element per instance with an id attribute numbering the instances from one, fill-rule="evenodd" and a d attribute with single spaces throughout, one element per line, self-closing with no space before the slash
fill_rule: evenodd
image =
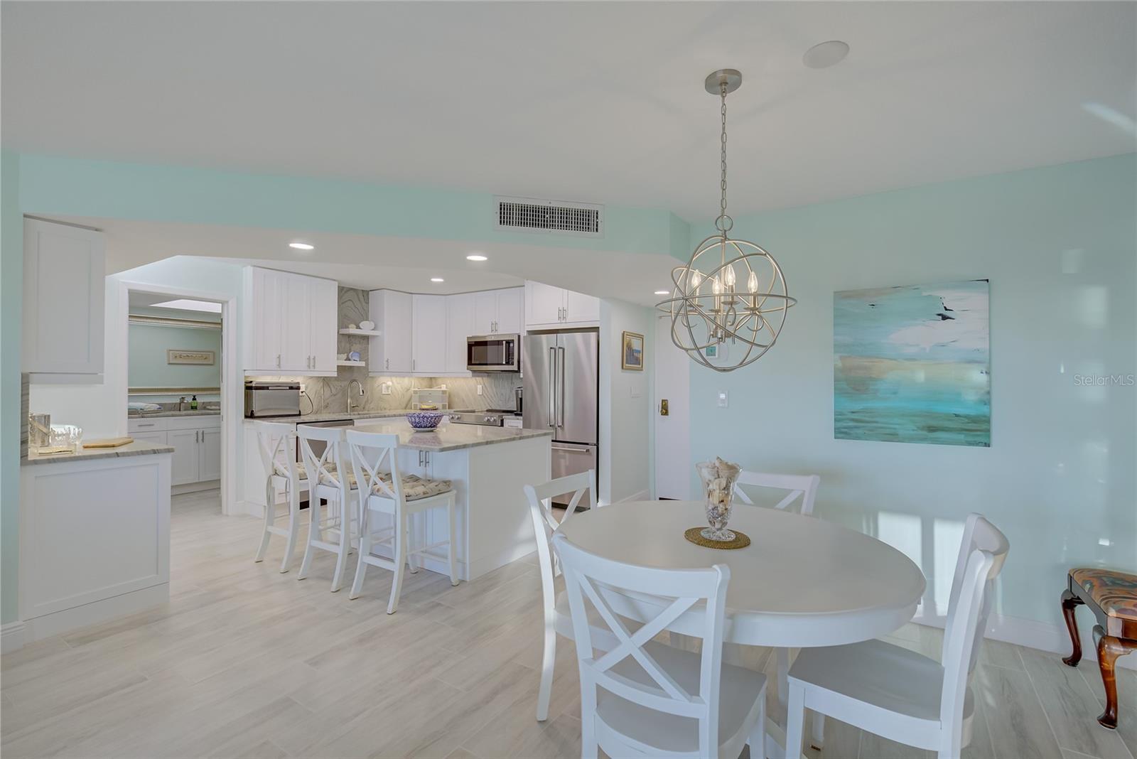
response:
<path id="1" fill-rule="evenodd" d="M 978 514 L 968 517 L 955 565 L 941 661 L 883 641 L 803 649 L 789 670 L 786 745 L 802 745 L 805 709 L 890 741 L 957 759 L 971 741 L 969 685 L 1010 543 Z"/>

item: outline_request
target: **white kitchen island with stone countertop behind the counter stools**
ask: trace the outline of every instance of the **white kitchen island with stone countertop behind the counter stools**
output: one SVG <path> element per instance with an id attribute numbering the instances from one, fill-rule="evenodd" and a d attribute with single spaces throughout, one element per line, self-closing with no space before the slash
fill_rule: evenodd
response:
<path id="1" fill-rule="evenodd" d="M 551 429 L 445 423 L 415 432 L 406 420 L 356 423 L 360 432 L 399 436 L 399 473 L 454 483 L 458 576 L 475 579 L 537 550 L 522 487 L 550 477 Z M 347 461 L 345 461 L 347 465 Z M 416 515 L 418 545 L 447 537 L 446 512 Z M 376 553 L 383 549 L 376 547 Z M 446 574 L 445 554 L 425 554 L 428 569 Z"/>

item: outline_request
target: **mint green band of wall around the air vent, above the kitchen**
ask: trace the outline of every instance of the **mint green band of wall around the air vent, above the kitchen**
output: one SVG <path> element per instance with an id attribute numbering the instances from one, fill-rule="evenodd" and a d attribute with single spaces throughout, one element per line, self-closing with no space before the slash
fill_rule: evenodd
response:
<path id="1" fill-rule="evenodd" d="M 493 227 L 493 195 L 341 180 L 24 155 L 25 214 L 509 242 L 675 253 L 687 223 L 665 210 L 607 206 L 601 239 Z"/>

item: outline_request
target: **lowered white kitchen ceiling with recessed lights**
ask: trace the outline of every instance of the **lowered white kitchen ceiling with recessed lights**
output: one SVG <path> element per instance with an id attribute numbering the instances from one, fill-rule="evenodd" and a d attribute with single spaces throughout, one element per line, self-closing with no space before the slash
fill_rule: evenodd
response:
<path id="1" fill-rule="evenodd" d="M 326 232 L 172 224 L 91 217 L 58 220 L 101 230 L 107 235 L 107 273 L 115 274 L 173 256 L 197 256 L 225 264 L 267 266 L 338 281 L 347 287 L 387 287 L 450 294 L 512 287 L 525 280 L 547 282 L 599 298 L 648 306 L 670 286 L 674 258 L 654 253 L 541 248 L 380 237 Z M 292 250 L 305 240 L 315 250 Z M 488 260 L 467 261 L 470 253 Z M 431 282 L 442 277 L 445 282 Z M 168 300 L 168 295 L 161 297 Z M 133 302 L 133 301 L 132 301 Z M 143 305 L 139 301 L 136 305 Z"/>

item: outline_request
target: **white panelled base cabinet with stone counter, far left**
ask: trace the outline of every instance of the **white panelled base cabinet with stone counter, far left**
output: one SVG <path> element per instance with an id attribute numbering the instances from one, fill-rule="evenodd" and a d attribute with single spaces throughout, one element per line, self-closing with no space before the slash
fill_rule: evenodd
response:
<path id="1" fill-rule="evenodd" d="M 173 451 L 134 441 L 20 461 L 25 641 L 169 600 Z"/>

